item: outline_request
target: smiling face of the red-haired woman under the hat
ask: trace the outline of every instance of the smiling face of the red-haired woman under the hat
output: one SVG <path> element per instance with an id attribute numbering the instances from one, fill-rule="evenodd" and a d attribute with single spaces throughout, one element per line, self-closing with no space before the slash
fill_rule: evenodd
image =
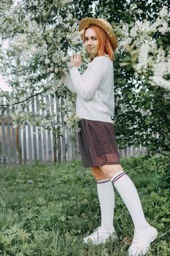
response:
<path id="1" fill-rule="evenodd" d="M 85 48 L 89 56 L 98 55 L 98 38 L 93 29 L 89 28 L 85 31 Z"/>

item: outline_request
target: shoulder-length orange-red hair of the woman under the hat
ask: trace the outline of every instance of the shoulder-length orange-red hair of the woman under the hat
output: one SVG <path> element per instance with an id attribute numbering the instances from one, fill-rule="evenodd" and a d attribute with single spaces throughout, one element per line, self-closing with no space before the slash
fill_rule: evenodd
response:
<path id="1" fill-rule="evenodd" d="M 107 54 L 109 56 L 109 59 L 113 61 L 114 51 L 112 49 L 112 45 L 109 41 L 109 37 L 107 36 L 107 33 L 103 29 L 101 29 L 99 26 L 96 26 L 96 25 L 90 25 L 87 29 L 89 28 L 93 29 L 98 39 L 98 56 L 104 56 Z M 85 29 L 85 31 L 87 29 Z M 83 42 L 85 42 L 85 31 L 82 37 Z"/>

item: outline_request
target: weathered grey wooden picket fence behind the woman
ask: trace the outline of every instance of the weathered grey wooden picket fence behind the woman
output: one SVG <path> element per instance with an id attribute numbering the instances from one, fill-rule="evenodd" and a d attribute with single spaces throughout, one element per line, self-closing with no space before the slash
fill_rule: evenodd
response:
<path id="1" fill-rule="evenodd" d="M 58 105 L 61 102 L 57 98 L 49 97 L 50 110 L 58 112 Z M 39 98 L 31 102 L 29 110 L 39 112 Z M 6 116 L 6 117 L 4 117 Z M 55 163 L 66 162 L 71 159 L 80 159 L 77 135 L 72 136 L 69 129 L 65 129 L 63 137 L 56 138 L 53 132 L 37 128 L 29 124 L 23 127 L 14 128 L 10 112 L 0 117 L 0 165 L 11 165 L 17 163 L 31 164 L 34 162 Z M 56 122 L 64 125 L 63 114 L 56 116 Z M 120 157 L 139 156 L 144 154 L 146 149 L 125 148 L 120 150 Z"/>

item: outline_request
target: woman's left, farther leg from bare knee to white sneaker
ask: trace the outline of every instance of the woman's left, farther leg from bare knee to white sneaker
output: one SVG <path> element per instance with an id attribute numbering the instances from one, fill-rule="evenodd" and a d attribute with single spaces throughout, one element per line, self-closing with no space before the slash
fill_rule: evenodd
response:
<path id="1" fill-rule="evenodd" d="M 98 166 L 92 167 L 91 169 L 97 182 L 98 200 L 101 208 L 101 226 L 93 234 L 84 238 L 84 241 L 86 243 L 90 240 L 93 244 L 101 244 L 115 232 L 113 227 L 115 192 L 112 182 Z"/>

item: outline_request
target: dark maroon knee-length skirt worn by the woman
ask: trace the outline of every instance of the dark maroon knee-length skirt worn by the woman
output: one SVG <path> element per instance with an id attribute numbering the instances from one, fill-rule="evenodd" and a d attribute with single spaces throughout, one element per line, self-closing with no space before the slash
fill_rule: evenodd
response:
<path id="1" fill-rule="evenodd" d="M 120 164 L 112 123 L 80 119 L 79 127 L 82 165 L 93 167 Z"/>

